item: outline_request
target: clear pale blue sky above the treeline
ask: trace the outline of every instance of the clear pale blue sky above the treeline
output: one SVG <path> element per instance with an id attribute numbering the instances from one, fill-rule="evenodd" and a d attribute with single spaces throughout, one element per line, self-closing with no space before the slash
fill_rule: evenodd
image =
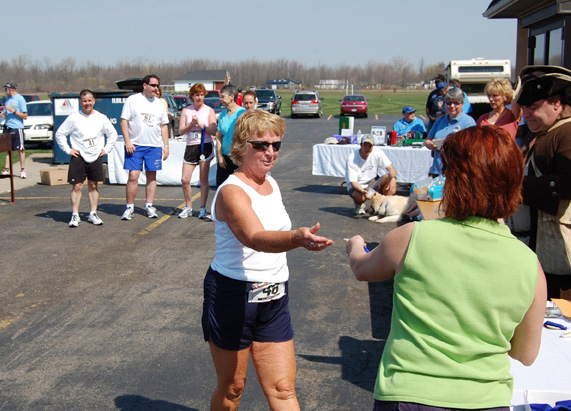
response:
<path id="1" fill-rule="evenodd" d="M 4 6 L 2 53 L 58 63 L 73 58 L 177 63 L 297 60 L 418 68 L 452 59 L 515 61 L 516 20 L 482 16 L 490 0 L 28 0 Z M 7 18 L 7 12 L 13 17 Z"/>

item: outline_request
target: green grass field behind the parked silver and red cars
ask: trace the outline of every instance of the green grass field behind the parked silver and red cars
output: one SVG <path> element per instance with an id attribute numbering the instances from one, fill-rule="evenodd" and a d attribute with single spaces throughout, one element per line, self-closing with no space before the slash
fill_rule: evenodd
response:
<path id="1" fill-rule="evenodd" d="M 291 114 L 291 97 L 293 90 L 281 91 L 278 94 L 282 96 L 282 115 L 289 116 Z M 369 103 L 369 116 L 383 114 L 401 114 L 404 106 L 413 106 L 419 113 L 424 113 L 426 98 L 430 90 L 426 91 L 397 91 L 392 90 L 366 90 L 362 92 L 356 91 L 355 94 L 363 94 Z M 319 92 L 323 99 L 323 115 L 339 115 L 341 99 L 345 95 L 343 90 L 322 90 Z"/>

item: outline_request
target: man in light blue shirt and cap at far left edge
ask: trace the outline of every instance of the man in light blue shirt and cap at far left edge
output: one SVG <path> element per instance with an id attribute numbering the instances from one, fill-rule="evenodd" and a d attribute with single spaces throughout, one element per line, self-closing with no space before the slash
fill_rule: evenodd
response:
<path id="1" fill-rule="evenodd" d="M 4 102 L 4 111 L 0 114 L 6 119 L 4 122 L 4 133 L 12 135 L 12 150 L 20 155 L 20 178 L 26 178 L 26 155 L 24 154 L 24 120 L 28 118 L 28 108 L 26 100 L 16 91 L 18 85 L 14 81 L 9 81 L 4 85 L 4 90 L 8 98 Z M 9 164 L 9 153 L 6 154 L 6 164 Z M 10 174 L 10 169 L 5 168 L 0 173 L 3 176 Z"/>

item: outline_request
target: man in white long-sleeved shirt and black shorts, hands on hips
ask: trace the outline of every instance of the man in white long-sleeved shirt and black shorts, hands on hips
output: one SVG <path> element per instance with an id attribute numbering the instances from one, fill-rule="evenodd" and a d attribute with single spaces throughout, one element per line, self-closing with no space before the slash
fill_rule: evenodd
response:
<path id="1" fill-rule="evenodd" d="M 77 227 L 80 222 L 79 203 L 81 190 L 87 178 L 89 185 L 89 217 L 87 221 L 101 225 L 103 221 L 97 215 L 99 191 L 97 183 L 105 180 L 103 156 L 113 150 L 117 141 L 117 131 L 111 121 L 93 109 L 95 97 L 91 90 L 79 93 L 81 111 L 69 115 L 56 131 L 56 141 L 61 149 L 71 156 L 67 181 L 73 185 L 71 190 L 70 227 Z M 67 142 L 69 135 L 70 144 Z M 107 143 L 105 142 L 107 136 Z"/>

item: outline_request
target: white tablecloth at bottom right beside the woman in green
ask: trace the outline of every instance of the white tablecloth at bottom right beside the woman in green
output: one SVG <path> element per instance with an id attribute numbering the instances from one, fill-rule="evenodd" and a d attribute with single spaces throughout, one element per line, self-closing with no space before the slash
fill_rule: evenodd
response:
<path id="1" fill-rule="evenodd" d="M 571 329 L 571 321 L 564 318 L 546 318 L 546 320 L 566 325 Z M 559 338 L 563 332 L 543 328 L 539 355 L 529 367 L 510 358 L 512 364 L 510 373 L 514 377 L 512 405 L 524 403 L 525 390 L 568 392 L 567 399 L 571 399 L 571 338 Z M 531 397 L 532 393 L 529 395 Z M 533 402 L 533 399 L 530 399 Z"/>

